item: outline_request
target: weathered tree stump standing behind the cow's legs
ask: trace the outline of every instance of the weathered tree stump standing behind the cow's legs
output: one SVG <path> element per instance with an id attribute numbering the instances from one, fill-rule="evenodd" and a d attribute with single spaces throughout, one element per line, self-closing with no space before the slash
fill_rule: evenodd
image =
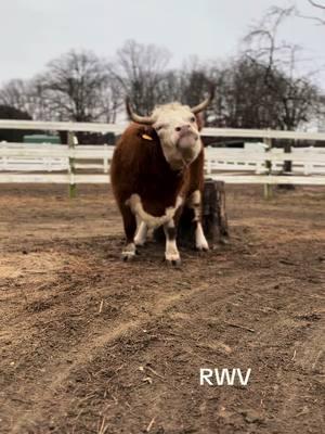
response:
<path id="1" fill-rule="evenodd" d="M 194 212 L 186 206 L 181 215 L 178 226 L 178 244 L 183 247 L 195 246 Z M 225 192 L 223 181 L 205 181 L 203 196 L 203 229 L 210 246 L 217 243 L 229 243 L 229 228 L 225 212 Z M 158 242 L 165 241 L 162 228 L 154 231 Z"/>

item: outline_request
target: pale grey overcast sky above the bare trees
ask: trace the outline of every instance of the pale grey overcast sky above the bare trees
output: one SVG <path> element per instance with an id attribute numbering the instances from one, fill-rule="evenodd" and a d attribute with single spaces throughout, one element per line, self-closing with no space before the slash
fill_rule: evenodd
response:
<path id="1" fill-rule="evenodd" d="M 324 1 L 324 0 L 320 0 Z M 324 1 L 325 3 L 325 1 Z M 70 49 L 113 56 L 126 39 L 166 47 L 171 65 L 188 55 L 226 59 L 271 5 L 287 0 L 0 0 L 0 84 L 30 78 Z M 321 16 L 308 0 L 306 15 Z M 325 25 L 289 20 L 281 37 L 303 47 L 306 71 L 325 65 Z M 313 64 L 310 60 L 313 59 Z M 320 76 L 325 88 L 325 74 Z"/>

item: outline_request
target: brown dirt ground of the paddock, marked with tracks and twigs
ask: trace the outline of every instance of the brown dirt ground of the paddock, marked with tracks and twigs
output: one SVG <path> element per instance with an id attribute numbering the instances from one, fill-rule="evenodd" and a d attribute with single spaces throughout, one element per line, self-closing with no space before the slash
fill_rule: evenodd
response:
<path id="1" fill-rule="evenodd" d="M 174 269 L 120 261 L 107 187 L 1 186 L 2 434 L 324 432 L 325 190 L 226 201 L 231 243 Z"/>

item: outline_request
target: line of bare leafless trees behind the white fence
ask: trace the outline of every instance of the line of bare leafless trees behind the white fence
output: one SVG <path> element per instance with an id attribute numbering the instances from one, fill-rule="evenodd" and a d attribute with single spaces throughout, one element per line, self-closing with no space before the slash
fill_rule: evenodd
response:
<path id="1" fill-rule="evenodd" d="M 223 62 L 191 59 L 170 68 L 167 50 L 134 40 L 110 61 L 88 51 L 67 52 L 36 77 L 4 84 L 0 117 L 13 107 L 34 119 L 115 123 L 125 118 L 126 94 L 135 111 L 146 114 L 173 100 L 194 105 L 213 84 L 206 125 L 296 129 L 323 115 L 325 98 L 314 76 L 297 69 L 297 47 L 276 40 L 278 26 L 291 13 L 274 8 L 242 41 L 237 58 Z"/>

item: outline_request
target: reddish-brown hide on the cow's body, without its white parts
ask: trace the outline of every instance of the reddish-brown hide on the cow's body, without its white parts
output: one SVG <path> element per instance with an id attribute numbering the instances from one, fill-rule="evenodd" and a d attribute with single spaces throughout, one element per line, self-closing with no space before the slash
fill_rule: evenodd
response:
<path id="1" fill-rule="evenodd" d="M 143 138 L 150 136 L 153 140 Z M 112 188 L 119 208 L 131 194 L 139 194 L 144 209 L 161 216 L 174 206 L 179 193 L 187 197 L 204 184 L 204 150 L 186 168 L 174 171 L 165 159 L 154 128 L 131 124 L 119 139 L 110 167 Z"/>

